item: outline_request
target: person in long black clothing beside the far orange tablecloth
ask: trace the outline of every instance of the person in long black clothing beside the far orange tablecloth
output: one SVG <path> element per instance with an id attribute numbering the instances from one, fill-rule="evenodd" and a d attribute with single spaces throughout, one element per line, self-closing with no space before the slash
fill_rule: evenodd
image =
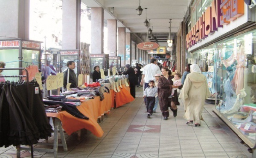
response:
<path id="1" fill-rule="evenodd" d="M 126 64 L 125 68 L 127 69 L 127 71 L 124 72 L 123 74 L 128 75 L 128 79 L 129 79 L 129 83 L 130 83 L 130 93 L 131 93 L 131 96 L 133 96 L 135 98 L 135 92 L 136 92 L 135 87 L 137 84 L 135 71 L 131 67 L 130 64 Z"/>

